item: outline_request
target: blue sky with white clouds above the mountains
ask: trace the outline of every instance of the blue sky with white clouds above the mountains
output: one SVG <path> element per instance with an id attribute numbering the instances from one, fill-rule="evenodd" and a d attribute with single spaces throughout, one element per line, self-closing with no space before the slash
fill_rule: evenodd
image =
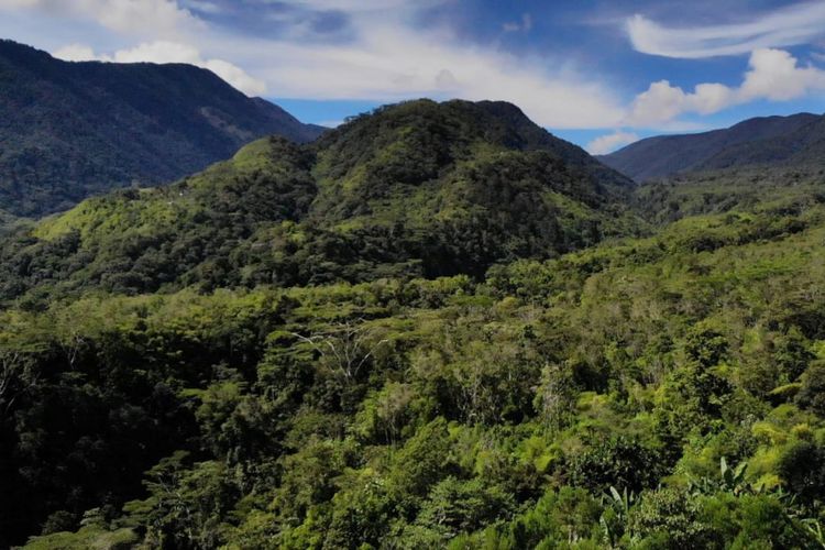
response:
<path id="1" fill-rule="evenodd" d="M 0 37 L 190 63 L 330 127 L 405 99 L 506 100 L 594 154 L 825 111 L 825 0 L 0 0 Z"/>

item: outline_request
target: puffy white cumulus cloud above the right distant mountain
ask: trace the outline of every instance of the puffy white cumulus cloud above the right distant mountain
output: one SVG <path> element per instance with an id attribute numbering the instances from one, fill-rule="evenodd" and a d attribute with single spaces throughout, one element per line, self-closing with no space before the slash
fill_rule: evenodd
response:
<path id="1" fill-rule="evenodd" d="M 656 127 L 683 113 L 711 114 L 758 99 L 787 101 L 817 91 L 825 91 L 825 70 L 800 66 L 785 51 L 763 48 L 750 55 L 749 69 L 739 87 L 700 84 L 693 91 L 684 91 L 660 80 L 636 97 L 625 123 Z"/>

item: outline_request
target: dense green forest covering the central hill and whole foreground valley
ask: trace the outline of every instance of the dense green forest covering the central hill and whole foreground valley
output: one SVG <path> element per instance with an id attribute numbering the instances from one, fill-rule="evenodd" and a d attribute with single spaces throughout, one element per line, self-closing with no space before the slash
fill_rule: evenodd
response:
<path id="1" fill-rule="evenodd" d="M 825 547 L 825 174 L 635 187 L 513 109 L 8 230 L 0 546 Z"/>

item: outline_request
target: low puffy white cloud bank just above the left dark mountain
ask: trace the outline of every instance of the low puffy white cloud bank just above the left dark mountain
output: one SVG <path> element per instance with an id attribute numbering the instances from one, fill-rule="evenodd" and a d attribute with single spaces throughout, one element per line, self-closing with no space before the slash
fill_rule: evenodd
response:
<path id="1" fill-rule="evenodd" d="M 204 59 L 197 48 L 177 42 L 144 43 L 131 50 L 120 50 L 113 55 L 98 55 L 89 46 L 70 44 L 54 52 L 54 56 L 73 62 L 186 63 L 211 70 L 248 96 L 261 96 L 266 91 L 265 82 L 251 77 L 240 67 L 223 59 Z"/>

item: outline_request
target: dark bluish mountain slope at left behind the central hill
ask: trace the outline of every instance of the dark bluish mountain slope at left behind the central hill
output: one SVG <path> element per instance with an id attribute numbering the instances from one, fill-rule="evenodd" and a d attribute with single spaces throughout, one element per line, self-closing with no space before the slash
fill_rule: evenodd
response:
<path id="1" fill-rule="evenodd" d="M 0 209 L 38 216 L 323 129 L 190 65 L 67 63 L 0 41 Z"/>

